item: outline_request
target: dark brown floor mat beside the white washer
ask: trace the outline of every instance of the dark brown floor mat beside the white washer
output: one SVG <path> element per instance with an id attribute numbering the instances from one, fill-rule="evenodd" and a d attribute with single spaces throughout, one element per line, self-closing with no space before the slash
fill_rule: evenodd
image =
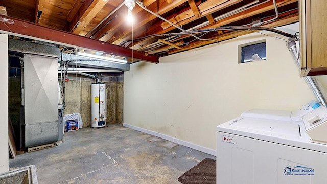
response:
<path id="1" fill-rule="evenodd" d="M 216 160 L 205 158 L 178 178 L 183 184 L 215 184 Z"/>

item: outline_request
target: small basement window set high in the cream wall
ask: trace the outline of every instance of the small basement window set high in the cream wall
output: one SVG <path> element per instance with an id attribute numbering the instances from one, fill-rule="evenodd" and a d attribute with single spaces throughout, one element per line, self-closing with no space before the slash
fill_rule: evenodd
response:
<path id="1" fill-rule="evenodd" d="M 239 63 L 266 59 L 266 40 L 239 45 Z"/>

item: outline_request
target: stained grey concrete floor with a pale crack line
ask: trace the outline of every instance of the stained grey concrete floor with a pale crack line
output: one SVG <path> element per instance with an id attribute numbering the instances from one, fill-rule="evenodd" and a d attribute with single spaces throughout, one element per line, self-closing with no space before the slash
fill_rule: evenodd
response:
<path id="1" fill-rule="evenodd" d="M 54 148 L 18 155 L 9 167 L 36 166 L 39 183 L 179 183 L 204 158 L 194 149 L 119 124 L 65 132 Z"/>

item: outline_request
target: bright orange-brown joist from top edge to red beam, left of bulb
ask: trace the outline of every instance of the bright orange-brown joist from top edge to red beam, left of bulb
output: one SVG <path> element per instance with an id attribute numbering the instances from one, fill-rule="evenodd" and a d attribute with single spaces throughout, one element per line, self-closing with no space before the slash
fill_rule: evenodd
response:
<path id="1" fill-rule="evenodd" d="M 89 24 L 89 22 L 100 12 L 100 10 L 107 4 L 108 1 L 96 0 L 93 1 L 90 6 L 83 13 L 81 18 L 79 19 L 77 27 L 74 27 L 71 32 L 74 34 L 80 34 L 85 27 Z"/>

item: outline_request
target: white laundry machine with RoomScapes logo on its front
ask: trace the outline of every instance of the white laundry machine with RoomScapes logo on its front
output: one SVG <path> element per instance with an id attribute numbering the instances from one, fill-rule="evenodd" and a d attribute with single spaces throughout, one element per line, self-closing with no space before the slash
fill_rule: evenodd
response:
<path id="1" fill-rule="evenodd" d="M 295 117 L 256 109 L 217 126 L 217 183 L 327 183 L 327 145 Z"/>

